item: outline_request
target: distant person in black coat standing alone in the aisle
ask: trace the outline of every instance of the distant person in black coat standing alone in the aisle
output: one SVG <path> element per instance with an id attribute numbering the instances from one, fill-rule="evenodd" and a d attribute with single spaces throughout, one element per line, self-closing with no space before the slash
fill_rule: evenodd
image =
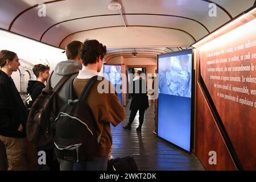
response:
<path id="1" fill-rule="evenodd" d="M 139 110 L 139 126 L 136 130 L 141 131 L 141 127 L 144 121 L 144 113 L 149 107 L 146 81 L 143 77 L 144 74 L 142 73 L 142 71 L 138 71 L 137 76 L 135 76 L 133 79 L 133 93 L 131 93 L 133 99 L 131 100 L 130 105 L 131 113 L 129 117 L 129 123 L 123 126 L 123 129 L 131 129 L 131 124 L 133 123 L 134 118 Z"/>

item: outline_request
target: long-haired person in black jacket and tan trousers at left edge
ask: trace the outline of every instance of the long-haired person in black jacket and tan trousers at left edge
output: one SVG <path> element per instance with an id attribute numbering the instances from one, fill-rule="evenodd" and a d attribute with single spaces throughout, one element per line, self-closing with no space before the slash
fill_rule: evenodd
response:
<path id="1" fill-rule="evenodd" d="M 5 146 L 8 170 L 27 169 L 24 155 L 27 108 L 11 78 L 19 65 L 15 52 L 0 51 L 0 140 Z"/>

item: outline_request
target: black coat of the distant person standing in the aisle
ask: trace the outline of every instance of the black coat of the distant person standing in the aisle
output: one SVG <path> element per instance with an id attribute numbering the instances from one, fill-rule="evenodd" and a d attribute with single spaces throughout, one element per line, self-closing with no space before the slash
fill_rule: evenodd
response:
<path id="1" fill-rule="evenodd" d="M 133 81 L 131 96 L 133 100 L 131 100 L 130 110 L 146 110 L 149 107 L 146 81 L 141 79 Z"/>

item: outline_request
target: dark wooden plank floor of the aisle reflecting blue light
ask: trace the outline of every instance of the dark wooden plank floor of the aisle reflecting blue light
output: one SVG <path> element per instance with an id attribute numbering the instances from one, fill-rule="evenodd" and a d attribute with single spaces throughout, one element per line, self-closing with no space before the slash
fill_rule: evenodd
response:
<path id="1" fill-rule="evenodd" d="M 146 110 L 141 133 L 136 131 L 139 125 L 139 112 L 131 130 L 123 129 L 122 126 L 129 121 L 129 107 L 130 102 L 126 106 L 125 121 L 117 127 L 112 126 L 114 158 L 133 156 L 139 170 L 205 170 L 195 154 L 188 154 L 152 133 L 155 127 L 154 104 L 150 103 L 150 108 Z"/>

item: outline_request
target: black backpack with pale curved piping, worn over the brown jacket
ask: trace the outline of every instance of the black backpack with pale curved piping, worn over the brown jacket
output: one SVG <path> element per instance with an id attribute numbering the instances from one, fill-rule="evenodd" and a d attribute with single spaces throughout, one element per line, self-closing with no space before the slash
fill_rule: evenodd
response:
<path id="1" fill-rule="evenodd" d="M 68 103 L 61 107 L 55 120 L 54 144 L 57 158 L 69 162 L 94 159 L 102 131 L 97 136 L 96 122 L 85 100 L 96 81 L 97 76 L 90 78 L 77 100 L 73 100 L 71 82 Z"/>

